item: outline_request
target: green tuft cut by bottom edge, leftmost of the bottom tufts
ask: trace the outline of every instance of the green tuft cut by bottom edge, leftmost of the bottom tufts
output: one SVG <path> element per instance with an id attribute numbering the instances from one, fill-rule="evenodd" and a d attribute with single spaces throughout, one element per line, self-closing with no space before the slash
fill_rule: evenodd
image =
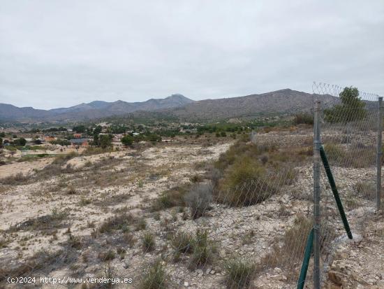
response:
<path id="1" fill-rule="evenodd" d="M 147 268 L 142 277 L 140 289 L 165 289 L 167 288 L 166 279 L 168 279 L 168 276 L 161 259 L 157 259 Z"/>

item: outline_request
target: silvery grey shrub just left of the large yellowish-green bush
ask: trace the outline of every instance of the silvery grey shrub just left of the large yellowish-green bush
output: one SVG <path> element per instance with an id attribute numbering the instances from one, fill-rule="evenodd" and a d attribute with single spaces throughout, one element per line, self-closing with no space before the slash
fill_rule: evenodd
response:
<path id="1" fill-rule="evenodd" d="M 191 208 L 191 218 L 196 219 L 203 216 L 212 202 L 212 185 L 198 184 L 193 186 L 185 196 L 185 202 Z"/>

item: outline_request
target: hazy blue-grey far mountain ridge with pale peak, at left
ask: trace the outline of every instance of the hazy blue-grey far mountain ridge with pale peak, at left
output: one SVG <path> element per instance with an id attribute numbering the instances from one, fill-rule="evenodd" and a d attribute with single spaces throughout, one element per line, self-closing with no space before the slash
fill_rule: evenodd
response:
<path id="1" fill-rule="evenodd" d="M 156 111 L 175 108 L 193 103 L 192 99 L 182 94 L 172 94 L 164 99 L 149 99 L 142 102 L 126 101 L 92 101 L 89 104 L 78 104 L 68 108 L 54 108 L 50 110 L 34 109 L 31 107 L 0 104 L 0 120 L 15 120 L 24 122 L 38 121 L 81 121 L 105 118 L 112 115 L 124 115 L 133 111 Z"/>

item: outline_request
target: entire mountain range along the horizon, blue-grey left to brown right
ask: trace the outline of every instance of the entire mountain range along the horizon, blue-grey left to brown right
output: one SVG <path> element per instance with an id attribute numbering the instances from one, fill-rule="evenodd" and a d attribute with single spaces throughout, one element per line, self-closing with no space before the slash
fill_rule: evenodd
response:
<path id="1" fill-rule="evenodd" d="M 333 102 L 337 98 L 320 95 L 323 101 Z M 175 116 L 182 121 L 216 121 L 254 115 L 295 113 L 309 111 L 313 107 L 313 94 L 296 90 L 277 90 L 244 97 L 205 99 L 193 101 L 182 94 L 172 94 L 164 99 L 149 99 L 142 102 L 92 101 L 68 108 L 50 110 L 0 104 L 0 120 L 18 122 L 76 122 L 128 115 L 133 112 L 160 112 Z"/>

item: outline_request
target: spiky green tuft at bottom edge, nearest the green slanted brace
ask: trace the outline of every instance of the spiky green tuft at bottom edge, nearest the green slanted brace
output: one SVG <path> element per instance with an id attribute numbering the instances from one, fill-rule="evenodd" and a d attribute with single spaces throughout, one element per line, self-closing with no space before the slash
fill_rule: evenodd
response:
<path id="1" fill-rule="evenodd" d="M 229 288 L 249 288 L 256 271 L 256 265 L 242 259 L 226 262 L 227 283 Z"/>

